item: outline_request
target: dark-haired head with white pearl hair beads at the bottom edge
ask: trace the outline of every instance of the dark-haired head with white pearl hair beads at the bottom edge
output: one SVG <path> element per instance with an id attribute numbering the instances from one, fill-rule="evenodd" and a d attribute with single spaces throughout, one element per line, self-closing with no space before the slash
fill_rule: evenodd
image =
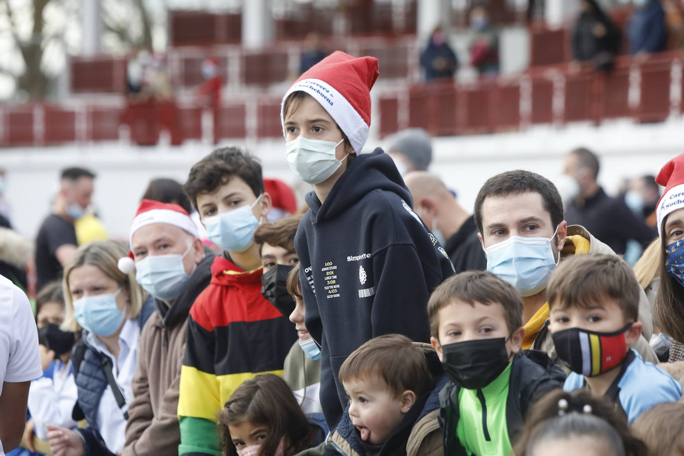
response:
<path id="1" fill-rule="evenodd" d="M 563 453 L 562 448 L 570 453 Z M 588 390 L 560 389 L 549 392 L 534 405 L 514 453 L 517 456 L 648 455 L 644 442 L 632 437 L 627 421 L 613 404 Z"/>

